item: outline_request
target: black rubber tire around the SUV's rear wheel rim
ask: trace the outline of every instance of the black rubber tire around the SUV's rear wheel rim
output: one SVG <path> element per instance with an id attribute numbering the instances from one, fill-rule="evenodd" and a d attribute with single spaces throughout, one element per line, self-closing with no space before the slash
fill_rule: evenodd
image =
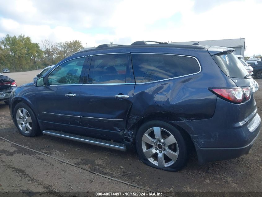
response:
<path id="1" fill-rule="evenodd" d="M 158 128 L 162 128 L 162 129 L 167 130 L 170 134 L 173 135 L 173 137 L 175 138 L 175 140 L 177 142 L 176 145 L 178 146 L 178 150 L 179 150 L 178 156 L 177 156 L 177 159 L 176 159 L 175 162 L 173 160 L 171 160 L 171 162 L 173 161 L 174 163 L 170 164 L 170 166 L 159 167 L 159 166 L 157 166 L 159 164 L 153 163 L 155 160 L 153 160 L 153 162 L 152 162 L 152 160 L 149 161 L 149 159 L 144 154 L 144 151 L 143 151 L 143 148 L 142 148 L 142 146 L 144 146 L 144 145 L 142 145 L 142 143 L 143 143 L 142 138 L 143 138 L 143 135 L 145 134 L 145 132 L 149 131 L 150 128 L 153 128 L 153 127 L 158 127 Z M 154 133 L 154 131 L 151 131 L 151 132 Z M 162 130 L 161 133 L 163 134 L 163 132 L 165 133 L 165 131 Z M 138 129 L 137 135 L 136 135 L 136 149 L 137 149 L 138 155 L 139 155 L 140 159 L 142 160 L 142 162 L 144 162 L 145 164 L 147 164 L 151 167 L 166 170 L 166 171 L 178 171 L 185 165 L 185 163 L 187 161 L 187 146 L 186 146 L 185 140 L 183 138 L 183 135 L 184 134 L 181 133 L 178 129 L 176 129 L 172 125 L 170 125 L 166 122 L 163 122 L 163 121 L 153 120 L 153 121 L 149 121 L 147 123 L 144 123 Z M 155 138 L 155 137 L 153 137 L 153 138 Z M 151 145 L 149 145 L 149 146 L 151 146 Z M 157 147 L 158 147 L 158 145 L 157 145 Z M 152 147 L 150 147 L 150 148 L 154 148 L 154 146 L 152 145 Z M 170 148 L 170 146 L 167 146 L 166 148 Z M 166 151 L 166 149 L 162 149 L 162 150 Z M 165 154 L 165 151 L 162 151 L 162 153 Z M 158 152 L 155 153 L 155 154 L 159 155 L 159 152 L 160 151 L 158 149 Z M 156 157 L 156 155 L 153 156 L 153 157 Z M 167 158 L 167 157 L 165 157 L 165 158 Z M 168 159 L 170 159 L 170 158 L 168 157 Z"/>

